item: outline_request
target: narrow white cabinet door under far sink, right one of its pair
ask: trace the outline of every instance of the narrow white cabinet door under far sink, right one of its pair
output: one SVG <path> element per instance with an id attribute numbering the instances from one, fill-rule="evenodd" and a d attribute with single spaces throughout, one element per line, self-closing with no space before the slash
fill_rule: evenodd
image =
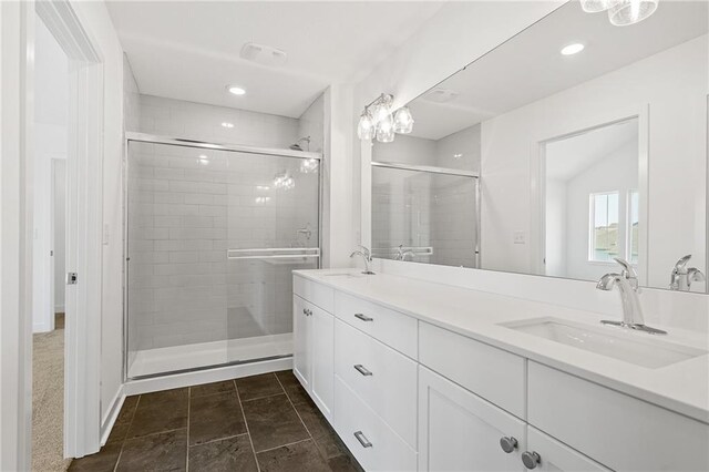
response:
<path id="1" fill-rule="evenodd" d="M 316 306 L 311 306 L 312 324 L 312 400 L 322 414 L 332 417 L 332 390 L 335 386 L 335 317 Z"/>

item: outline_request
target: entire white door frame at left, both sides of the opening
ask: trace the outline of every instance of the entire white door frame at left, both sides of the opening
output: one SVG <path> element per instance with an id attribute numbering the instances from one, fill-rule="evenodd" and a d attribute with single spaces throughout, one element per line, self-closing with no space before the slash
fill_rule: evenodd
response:
<path id="1" fill-rule="evenodd" d="M 0 470 L 29 470 L 35 11 L 70 62 L 64 455 L 100 449 L 103 63 L 68 0 L 0 2 Z"/>

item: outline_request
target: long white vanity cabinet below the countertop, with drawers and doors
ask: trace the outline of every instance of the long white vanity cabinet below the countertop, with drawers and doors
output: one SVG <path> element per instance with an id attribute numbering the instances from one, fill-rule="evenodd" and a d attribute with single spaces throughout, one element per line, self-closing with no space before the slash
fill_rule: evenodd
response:
<path id="1" fill-rule="evenodd" d="M 294 279 L 294 371 L 368 471 L 709 471 L 709 424 Z"/>

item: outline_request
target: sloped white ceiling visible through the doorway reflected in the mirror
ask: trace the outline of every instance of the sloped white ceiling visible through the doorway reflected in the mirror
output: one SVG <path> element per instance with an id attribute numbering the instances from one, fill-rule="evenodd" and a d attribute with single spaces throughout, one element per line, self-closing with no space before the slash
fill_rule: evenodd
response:
<path id="1" fill-rule="evenodd" d="M 546 177 L 569 181 L 600 158 L 638 140 L 638 120 L 590 130 L 546 144 Z"/>

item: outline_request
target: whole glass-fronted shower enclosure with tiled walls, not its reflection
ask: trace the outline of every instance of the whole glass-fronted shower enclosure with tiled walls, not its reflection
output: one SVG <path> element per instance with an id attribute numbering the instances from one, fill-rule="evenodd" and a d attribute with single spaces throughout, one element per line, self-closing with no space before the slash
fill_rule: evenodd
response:
<path id="1" fill-rule="evenodd" d="M 125 165 L 125 377 L 291 356 L 320 155 L 129 133 Z"/>

